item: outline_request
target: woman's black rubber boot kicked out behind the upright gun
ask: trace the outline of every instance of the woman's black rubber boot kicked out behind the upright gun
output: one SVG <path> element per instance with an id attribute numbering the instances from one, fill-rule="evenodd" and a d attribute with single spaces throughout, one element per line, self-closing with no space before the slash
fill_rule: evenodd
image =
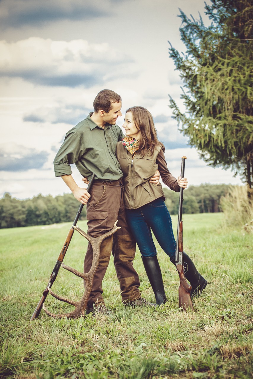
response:
<path id="1" fill-rule="evenodd" d="M 176 265 L 175 258 L 171 259 L 171 262 Z M 199 298 L 204 288 L 207 286 L 207 280 L 199 274 L 196 269 L 193 261 L 190 257 L 183 251 L 183 272 L 186 279 L 190 282 L 191 285 L 191 298 Z"/>

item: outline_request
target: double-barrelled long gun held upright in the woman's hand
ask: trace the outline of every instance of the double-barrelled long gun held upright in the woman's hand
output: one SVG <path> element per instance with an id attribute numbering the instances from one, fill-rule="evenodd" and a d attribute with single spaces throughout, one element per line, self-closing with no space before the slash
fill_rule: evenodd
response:
<path id="1" fill-rule="evenodd" d="M 182 157 L 181 163 L 181 178 L 185 175 L 185 160 L 186 157 Z M 179 294 L 179 307 L 183 310 L 191 309 L 194 311 L 193 304 L 191 301 L 191 286 L 188 284 L 183 273 L 183 221 L 182 221 L 182 210 L 183 210 L 183 188 L 180 187 L 179 193 L 179 210 L 178 210 L 178 222 L 177 222 L 177 245 L 176 245 L 176 256 L 175 262 L 177 265 L 177 271 L 179 274 L 180 285 L 178 288 Z"/>

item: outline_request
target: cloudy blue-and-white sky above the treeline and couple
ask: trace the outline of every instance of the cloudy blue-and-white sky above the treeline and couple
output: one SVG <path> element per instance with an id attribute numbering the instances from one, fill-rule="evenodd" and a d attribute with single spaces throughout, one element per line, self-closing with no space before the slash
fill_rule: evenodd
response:
<path id="1" fill-rule="evenodd" d="M 199 159 L 169 108 L 170 95 L 183 110 L 168 51 L 168 41 L 185 51 L 179 8 L 208 24 L 204 7 L 202 0 L 0 0 L 0 197 L 70 193 L 53 160 L 105 88 L 122 97 L 120 127 L 130 106 L 152 113 L 172 175 L 185 155 L 189 185 L 242 184 Z"/>

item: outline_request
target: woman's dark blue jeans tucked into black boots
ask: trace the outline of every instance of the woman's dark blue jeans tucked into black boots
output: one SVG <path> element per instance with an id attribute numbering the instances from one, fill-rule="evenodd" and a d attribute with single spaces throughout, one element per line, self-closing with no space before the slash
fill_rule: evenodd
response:
<path id="1" fill-rule="evenodd" d="M 166 254 L 171 258 L 175 257 L 176 241 L 172 231 L 171 216 L 163 199 L 156 199 L 138 209 L 126 209 L 126 221 L 141 255 L 144 257 L 157 255 L 152 230 L 157 242 Z"/>

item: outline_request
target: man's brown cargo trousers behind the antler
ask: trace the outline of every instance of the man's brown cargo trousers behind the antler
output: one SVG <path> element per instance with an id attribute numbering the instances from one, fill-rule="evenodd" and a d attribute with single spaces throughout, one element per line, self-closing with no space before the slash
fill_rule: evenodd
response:
<path id="1" fill-rule="evenodd" d="M 90 194 L 91 197 L 87 203 L 87 233 L 92 237 L 101 236 L 112 229 L 116 220 L 120 229 L 101 243 L 100 259 L 87 307 L 92 307 L 96 302 L 104 304 L 102 280 L 111 252 L 122 291 L 122 301 L 139 299 L 141 297 L 140 282 L 133 268 L 136 244 L 126 224 L 123 185 L 120 180 L 111 182 L 95 180 Z M 84 273 L 90 270 L 92 259 L 93 252 L 89 243 L 84 259 Z"/>

